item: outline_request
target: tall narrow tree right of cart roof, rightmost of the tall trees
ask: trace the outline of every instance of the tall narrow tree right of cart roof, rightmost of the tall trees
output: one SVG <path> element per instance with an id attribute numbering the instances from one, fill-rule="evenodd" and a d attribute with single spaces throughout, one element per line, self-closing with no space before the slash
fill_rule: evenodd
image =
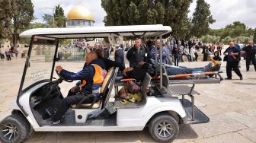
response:
<path id="1" fill-rule="evenodd" d="M 201 37 L 209 32 L 209 25 L 213 24 L 215 20 L 210 12 L 210 5 L 204 0 L 197 0 L 197 7 L 193 13 L 192 18 L 192 33 L 196 37 Z"/>

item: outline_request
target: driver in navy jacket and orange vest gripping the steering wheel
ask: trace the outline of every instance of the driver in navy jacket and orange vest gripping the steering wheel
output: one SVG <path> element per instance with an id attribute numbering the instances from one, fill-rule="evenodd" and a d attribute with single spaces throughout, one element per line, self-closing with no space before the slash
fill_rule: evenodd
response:
<path id="1" fill-rule="evenodd" d="M 56 114 L 54 114 L 50 119 L 43 120 L 43 122 L 41 122 L 42 126 L 58 124 L 61 117 L 65 115 L 67 110 L 69 110 L 69 107 L 72 104 L 77 104 L 88 94 L 95 94 L 97 96 L 96 102 L 101 100 L 99 88 L 106 76 L 105 70 L 100 66 L 102 65 L 102 60 L 98 59 L 95 52 L 89 52 L 85 61 L 88 64 L 85 64 L 82 71 L 78 71 L 77 73 L 66 71 L 61 66 L 56 66 L 56 71 L 59 71 L 59 75 L 62 76 L 64 80 L 81 80 L 84 94 L 75 94 L 75 92 L 69 91 L 69 96 L 62 100 L 62 104 Z M 85 100 L 84 103 L 92 103 L 93 100 L 94 98 L 89 98 L 88 100 Z"/>

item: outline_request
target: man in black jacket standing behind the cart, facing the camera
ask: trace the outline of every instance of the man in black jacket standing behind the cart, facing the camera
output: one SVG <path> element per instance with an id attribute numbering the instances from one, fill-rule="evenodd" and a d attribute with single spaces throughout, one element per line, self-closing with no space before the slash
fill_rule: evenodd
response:
<path id="1" fill-rule="evenodd" d="M 135 46 L 130 48 L 126 54 L 130 67 L 139 67 L 139 62 L 146 62 L 146 49 L 141 45 L 141 40 L 135 40 Z"/>

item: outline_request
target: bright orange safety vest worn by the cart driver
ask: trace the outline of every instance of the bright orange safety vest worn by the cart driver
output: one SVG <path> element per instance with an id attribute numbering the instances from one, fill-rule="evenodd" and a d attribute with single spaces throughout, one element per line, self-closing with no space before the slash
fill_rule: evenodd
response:
<path id="1" fill-rule="evenodd" d="M 92 66 L 94 66 L 95 69 L 95 74 L 93 77 L 93 84 L 102 84 L 104 81 L 104 78 L 106 77 L 106 71 L 104 69 L 101 68 L 101 66 L 96 65 L 96 64 L 91 64 Z M 86 81 L 82 80 L 82 85 L 85 85 Z"/>

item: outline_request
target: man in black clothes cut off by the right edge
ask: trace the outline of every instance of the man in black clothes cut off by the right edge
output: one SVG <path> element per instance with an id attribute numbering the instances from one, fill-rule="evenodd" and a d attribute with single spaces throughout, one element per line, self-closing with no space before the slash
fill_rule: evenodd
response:
<path id="1" fill-rule="evenodd" d="M 256 54 L 256 46 L 254 46 L 254 43 L 252 40 L 248 41 L 248 46 L 245 46 L 242 50 L 246 52 L 246 71 L 249 71 L 250 64 L 254 65 L 254 69 L 256 71 L 256 60 L 255 60 L 255 54 Z"/>

